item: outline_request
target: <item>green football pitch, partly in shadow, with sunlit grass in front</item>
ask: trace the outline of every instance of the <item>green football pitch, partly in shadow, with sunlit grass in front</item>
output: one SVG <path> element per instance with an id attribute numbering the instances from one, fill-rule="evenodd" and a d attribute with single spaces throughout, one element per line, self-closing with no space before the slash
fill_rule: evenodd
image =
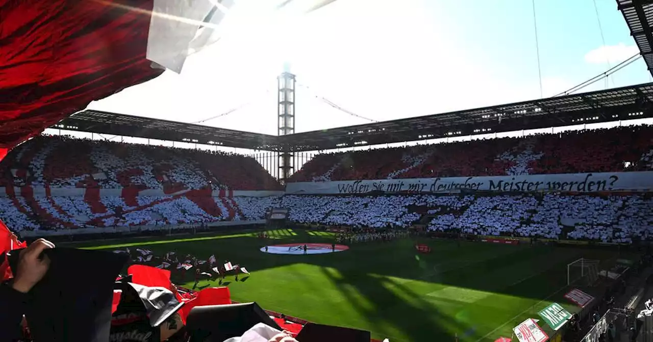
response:
<path id="1" fill-rule="evenodd" d="M 268 244 L 327 242 L 326 232 L 269 231 Z M 257 233 L 136 238 L 87 242 L 88 249 L 148 248 L 155 255 L 175 251 L 199 259 L 215 254 L 245 266 L 251 276 L 227 277 L 232 299 L 307 321 L 370 330 L 372 337 L 400 341 L 494 341 L 511 337 L 524 319 L 550 302 L 578 311 L 563 298 L 567 264 L 585 257 L 613 263 L 618 253 L 596 249 L 422 240 L 432 248 L 419 254 L 415 240 L 353 244 L 347 251 L 317 255 L 274 255 L 259 249 Z M 109 244 L 111 243 L 111 244 Z M 624 255 L 622 255 L 624 257 Z M 173 271 L 172 280 L 192 287 Z M 244 280 L 244 281 L 243 281 Z M 200 286 L 217 286 L 202 281 Z M 597 293 L 599 289 L 585 289 Z M 547 333 L 550 328 L 540 324 Z"/>

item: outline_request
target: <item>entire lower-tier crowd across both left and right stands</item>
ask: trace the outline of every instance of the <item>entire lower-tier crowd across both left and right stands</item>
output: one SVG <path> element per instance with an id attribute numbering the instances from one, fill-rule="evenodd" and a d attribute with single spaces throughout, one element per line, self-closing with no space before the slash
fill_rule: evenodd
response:
<path id="1" fill-rule="evenodd" d="M 234 197 L 101 197 L 93 212 L 81 197 L 0 197 L 0 219 L 17 231 L 129 225 L 180 225 L 264 220 L 269 208 L 288 208 L 289 220 L 354 229 L 402 229 L 475 235 L 537 236 L 631 242 L 653 239 L 650 195 L 388 195 Z M 214 207 L 210 207 L 212 204 Z M 40 205 L 39 210 L 35 206 Z M 17 207 L 18 206 L 18 207 Z"/>

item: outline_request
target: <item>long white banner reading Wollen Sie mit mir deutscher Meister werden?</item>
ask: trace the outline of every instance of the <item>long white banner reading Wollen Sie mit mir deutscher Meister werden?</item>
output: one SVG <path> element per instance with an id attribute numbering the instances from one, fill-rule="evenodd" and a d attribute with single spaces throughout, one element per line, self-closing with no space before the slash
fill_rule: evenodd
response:
<path id="1" fill-rule="evenodd" d="M 558 173 L 555 175 L 409 178 L 296 182 L 286 194 L 452 193 L 483 192 L 611 192 L 653 190 L 653 171 Z"/>

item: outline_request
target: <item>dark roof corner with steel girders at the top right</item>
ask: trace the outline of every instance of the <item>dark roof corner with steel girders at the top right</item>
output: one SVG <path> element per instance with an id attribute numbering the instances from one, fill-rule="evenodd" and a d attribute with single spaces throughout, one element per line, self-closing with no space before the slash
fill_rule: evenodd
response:
<path id="1" fill-rule="evenodd" d="M 653 0 L 616 0 L 648 71 L 653 75 Z"/>

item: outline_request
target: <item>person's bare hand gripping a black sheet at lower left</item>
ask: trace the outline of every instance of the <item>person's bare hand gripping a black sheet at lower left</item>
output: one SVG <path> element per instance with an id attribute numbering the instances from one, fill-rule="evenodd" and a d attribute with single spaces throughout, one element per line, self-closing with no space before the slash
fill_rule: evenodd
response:
<path id="1" fill-rule="evenodd" d="M 12 285 L 14 290 L 26 293 L 43 279 L 50 268 L 50 259 L 46 255 L 42 257 L 40 255 L 47 248 L 54 248 L 54 244 L 39 238 L 20 251 L 18 269 L 14 271 L 14 285 Z"/>

